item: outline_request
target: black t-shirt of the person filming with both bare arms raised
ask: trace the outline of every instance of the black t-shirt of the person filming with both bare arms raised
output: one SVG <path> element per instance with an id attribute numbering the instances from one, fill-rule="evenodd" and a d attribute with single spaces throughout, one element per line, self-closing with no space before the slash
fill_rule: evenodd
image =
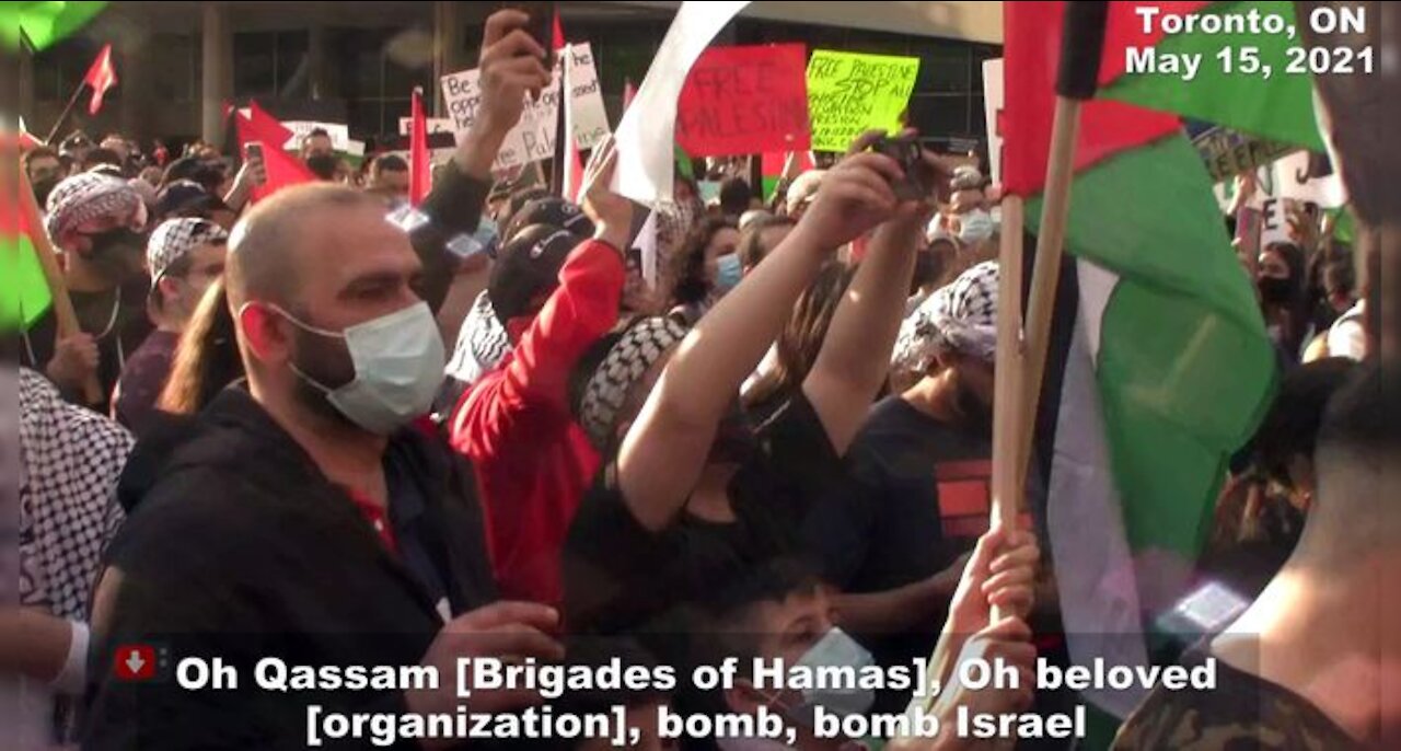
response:
<path id="1" fill-rule="evenodd" d="M 616 458 L 608 461 L 584 495 L 565 542 L 570 632 L 664 633 L 678 626 L 674 618 L 698 594 L 800 552 L 799 525 L 820 489 L 841 479 L 842 458 L 801 392 L 757 434 L 761 450 L 729 486 L 736 517 L 729 524 L 682 511 L 665 530 L 647 530 L 622 497 Z"/>

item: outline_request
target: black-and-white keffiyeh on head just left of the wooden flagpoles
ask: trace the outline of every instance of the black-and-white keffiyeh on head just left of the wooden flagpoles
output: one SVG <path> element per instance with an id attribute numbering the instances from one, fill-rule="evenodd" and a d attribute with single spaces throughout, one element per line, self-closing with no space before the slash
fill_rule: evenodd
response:
<path id="1" fill-rule="evenodd" d="M 985 261 L 929 296 L 899 325 L 890 364 L 923 373 L 940 350 L 993 361 L 998 352 L 998 262 Z"/>

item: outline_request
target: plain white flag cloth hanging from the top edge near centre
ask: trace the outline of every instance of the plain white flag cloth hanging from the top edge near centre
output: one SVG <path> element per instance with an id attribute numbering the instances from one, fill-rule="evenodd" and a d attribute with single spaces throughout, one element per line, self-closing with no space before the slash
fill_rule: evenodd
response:
<path id="1" fill-rule="evenodd" d="M 671 199 L 675 178 L 677 99 L 715 35 L 748 1 L 681 3 L 647 77 L 618 123 L 612 189 L 647 206 Z"/>

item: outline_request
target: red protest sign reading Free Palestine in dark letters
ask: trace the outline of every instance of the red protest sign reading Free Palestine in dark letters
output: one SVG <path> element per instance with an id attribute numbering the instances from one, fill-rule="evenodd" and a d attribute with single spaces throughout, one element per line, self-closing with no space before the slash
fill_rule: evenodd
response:
<path id="1" fill-rule="evenodd" d="M 692 157 L 806 151 L 807 50 L 803 45 L 710 48 L 677 102 L 677 143 Z"/>

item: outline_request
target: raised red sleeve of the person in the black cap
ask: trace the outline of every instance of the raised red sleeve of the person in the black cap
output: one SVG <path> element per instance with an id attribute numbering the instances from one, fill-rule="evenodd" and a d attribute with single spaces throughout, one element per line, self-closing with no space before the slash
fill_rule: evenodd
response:
<path id="1" fill-rule="evenodd" d="M 500 429 L 531 409 L 566 412 L 569 373 L 618 322 L 625 280 L 622 254 L 607 242 L 586 240 L 574 248 L 559 269 L 559 287 L 507 356 L 504 373 L 462 395 L 451 422 L 453 443 L 462 443 L 460 433 L 481 437 L 488 426 L 474 429 L 478 420 Z"/>

